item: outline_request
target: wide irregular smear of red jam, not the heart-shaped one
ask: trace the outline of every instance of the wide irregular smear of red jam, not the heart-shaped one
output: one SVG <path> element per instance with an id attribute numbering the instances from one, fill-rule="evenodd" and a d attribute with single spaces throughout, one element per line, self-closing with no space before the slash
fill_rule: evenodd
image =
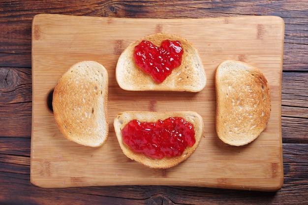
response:
<path id="1" fill-rule="evenodd" d="M 157 122 L 128 122 L 122 129 L 123 142 L 134 152 L 154 159 L 182 155 L 196 142 L 193 124 L 182 117 L 169 117 Z"/>

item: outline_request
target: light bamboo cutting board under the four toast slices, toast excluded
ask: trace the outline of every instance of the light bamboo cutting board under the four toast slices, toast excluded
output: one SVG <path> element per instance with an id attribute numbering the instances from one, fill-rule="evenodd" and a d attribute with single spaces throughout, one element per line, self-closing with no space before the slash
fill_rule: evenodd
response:
<path id="1" fill-rule="evenodd" d="M 182 35 L 198 49 L 207 75 L 198 93 L 125 91 L 115 80 L 117 60 L 131 42 L 155 32 Z M 275 191 L 283 183 L 281 75 L 284 23 L 279 17 L 125 19 L 40 14 L 32 22 L 31 183 L 40 187 L 180 185 Z M 258 67 L 270 85 L 267 128 L 246 146 L 228 146 L 215 131 L 214 72 L 226 59 Z M 48 96 L 60 76 L 78 61 L 94 60 L 109 73 L 109 138 L 99 148 L 66 140 Z M 195 111 L 204 137 L 195 152 L 166 170 L 146 168 L 122 152 L 113 119 L 119 112 Z"/>

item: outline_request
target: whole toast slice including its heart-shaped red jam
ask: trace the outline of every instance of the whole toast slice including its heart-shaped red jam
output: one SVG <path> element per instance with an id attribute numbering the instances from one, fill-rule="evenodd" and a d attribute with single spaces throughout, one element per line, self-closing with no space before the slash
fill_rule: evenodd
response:
<path id="1" fill-rule="evenodd" d="M 155 33 L 122 52 L 116 80 L 125 90 L 198 92 L 206 85 L 206 74 L 192 43 L 179 35 Z"/>

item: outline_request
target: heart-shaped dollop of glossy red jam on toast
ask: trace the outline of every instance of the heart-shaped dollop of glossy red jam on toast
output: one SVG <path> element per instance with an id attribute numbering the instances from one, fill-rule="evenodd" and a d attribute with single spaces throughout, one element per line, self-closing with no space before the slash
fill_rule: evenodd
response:
<path id="1" fill-rule="evenodd" d="M 179 41 L 164 40 L 157 47 L 143 40 L 135 46 L 135 63 L 146 73 L 151 74 L 156 83 L 162 83 L 172 70 L 182 62 L 183 49 Z"/>

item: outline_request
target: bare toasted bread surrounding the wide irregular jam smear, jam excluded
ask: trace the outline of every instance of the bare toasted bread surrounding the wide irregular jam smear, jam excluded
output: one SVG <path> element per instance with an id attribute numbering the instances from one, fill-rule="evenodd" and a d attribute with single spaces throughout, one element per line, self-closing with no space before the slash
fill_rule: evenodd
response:
<path id="1" fill-rule="evenodd" d="M 133 119 L 138 119 L 141 122 L 156 122 L 158 119 L 164 120 L 168 117 L 183 117 L 186 121 L 189 121 L 194 126 L 196 142 L 193 146 L 187 146 L 181 156 L 153 159 L 147 157 L 142 153 L 134 152 L 129 146 L 127 146 L 123 142 L 122 129 L 129 121 Z M 203 126 L 204 125 L 202 117 L 194 112 L 159 113 L 159 112 L 130 111 L 130 112 L 119 113 L 114 119 L 114 129 L 123 153 L 128 158 L 135 160 L 146 167 L 157 168 L 157 169 L 170 168 L 176 166 L 180 162 L 183 162 L 185 159 L 187 159 L 200 143 L 201 137 L 203 136 Z"/>

